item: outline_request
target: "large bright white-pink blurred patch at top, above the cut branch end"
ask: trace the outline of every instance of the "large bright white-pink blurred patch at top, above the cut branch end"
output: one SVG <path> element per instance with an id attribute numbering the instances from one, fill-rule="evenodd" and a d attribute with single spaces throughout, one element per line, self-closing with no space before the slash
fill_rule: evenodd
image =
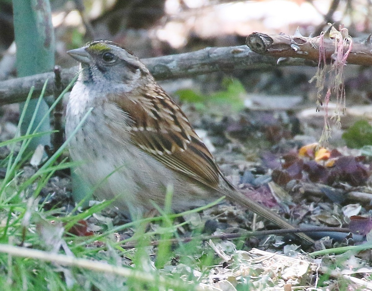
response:
<path id="1" fill-rule="evenodd" d="M 157 32 L 158 37 L 169 42 L 172 47 L 184 45 L 187 36 L 192 33 L 204 38 L 231 34 L 244 36 L 253 31 L 293 34 L 299 25 L 310 28 L 319 25 L 323 21 L 320 13 L 328 12 L 331 0 L 312 1 L 316 9 L 307 1 L 291 0 L 253 0 L 222 4 L 214 4 L 211 0 L 183 2 L 190 9 L 184 10 L 180 0 L 166 0 L 166 13 L 171 16 L 170 22 Z M 340 10 L 344 11 L 343 8 Z"/>

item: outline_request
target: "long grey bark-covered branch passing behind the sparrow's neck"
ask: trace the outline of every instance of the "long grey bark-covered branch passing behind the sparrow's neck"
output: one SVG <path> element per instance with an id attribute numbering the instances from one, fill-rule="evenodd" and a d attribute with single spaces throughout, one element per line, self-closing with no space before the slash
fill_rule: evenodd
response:
<path id="1" fill-rule="evenodd" d="M 184 78 L 217 71 L 267 69 L 276 66 L 277 58 L 254 53 L 246 45 L 237 47 L 209 47 L 191 53 L 163 57 L 145 58 L 143 63 L 157 80 Z M 304 60 L 281 65 L 306 65 Z M 61 72 L 63 87 L 70 83 L 78 67 Z M 25 101 L 31 86 L 35 86 L 33 98 L 41 92 L 45 80 L 48 85 L 45 95 L 51 95 L 54 88 L 54 73 L 44 73 L 0 82 L 0 105 Z"/>

